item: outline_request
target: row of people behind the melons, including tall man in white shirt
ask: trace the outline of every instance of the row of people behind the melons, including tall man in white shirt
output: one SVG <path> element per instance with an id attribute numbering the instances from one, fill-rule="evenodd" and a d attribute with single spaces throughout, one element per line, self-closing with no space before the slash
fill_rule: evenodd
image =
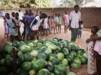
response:
<path id="1" fill-rule="evenodd" d="M 83 21 L 79 7 L 75 6 L 74 9 L 77 12 L 72 11 L 70 15 L 67 11 L 62 15 L 60 13 L 49 15 L 39 11 L 33 13 L 31 9 L 27 9 L 25 12 L 19 10 L 11 14 L 5 13 L 5 34 L 11 41 L 32 40 L 51 33 L 61 33 L 62 26 L 64 26 L 64 32 L 67 29 L 71 30 L 71 41 L 75 42 L 77 37 L 81 37 Z"/>

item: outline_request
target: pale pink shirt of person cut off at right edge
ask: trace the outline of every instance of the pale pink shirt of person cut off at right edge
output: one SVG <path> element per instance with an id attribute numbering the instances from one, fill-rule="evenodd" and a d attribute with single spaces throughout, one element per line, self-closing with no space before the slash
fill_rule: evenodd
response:
<path id="1" fill-rule="evenodd" d="M 97 32 L 97 36 L 98 37 L 101 37 L 101 30 L 99 30 Z M 99 55 L 101 55 L 101 41 L 100 40 L 99 41 L 96 41 L 95 46 L 94 46 L 94 50 L 96 52 L 98 52 Z"/>

